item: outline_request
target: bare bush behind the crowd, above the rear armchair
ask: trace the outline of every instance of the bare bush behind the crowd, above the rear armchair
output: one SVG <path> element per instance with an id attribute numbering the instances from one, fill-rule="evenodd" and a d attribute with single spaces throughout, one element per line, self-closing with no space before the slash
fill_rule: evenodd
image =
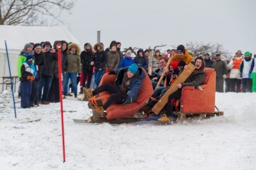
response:
<path id="1" fill-rule="evenodd" d="M 230 59 L 232 57 L 227 50 L 223 48 L 221 44 L 212 44 L 212 43 L 195 43 L 189 42 L 185 45 L 185 48 L 189 49 L 190 55 L 193 57 L 204 56 L 205 53 L 209 53 L 210 56 L 215 56 L 217 53 L 221 54 L 223 59 Z"/>

